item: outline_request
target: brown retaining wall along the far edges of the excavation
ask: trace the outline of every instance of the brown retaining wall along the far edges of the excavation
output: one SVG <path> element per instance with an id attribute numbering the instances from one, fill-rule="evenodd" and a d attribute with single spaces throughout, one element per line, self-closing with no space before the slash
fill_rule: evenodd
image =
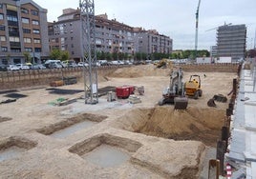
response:
<path id="1" fill-rule="evenodd" d="M 184 71 L 238 72 L 239 64 L 186 64 L 180 66 Z M 98 67 L 97 75 L 107 76 L 119 68 L 126 67 L 130 66 Z M 77 81 L 81 81 L 83 68 L 0 71 L 0 90 L 46 86 L 66 77 L 76 77 Z"/>

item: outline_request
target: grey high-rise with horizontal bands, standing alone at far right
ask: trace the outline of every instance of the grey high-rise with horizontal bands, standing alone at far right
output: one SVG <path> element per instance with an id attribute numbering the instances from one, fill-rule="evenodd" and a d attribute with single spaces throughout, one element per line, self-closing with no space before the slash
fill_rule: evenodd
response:
<path id="1" fill-rule="evenodd" d="M 245 25 L 224 25 L 217 30 L 218 57 L 230 56 L 232 62 L 245 58 L 246 27 Z"/>

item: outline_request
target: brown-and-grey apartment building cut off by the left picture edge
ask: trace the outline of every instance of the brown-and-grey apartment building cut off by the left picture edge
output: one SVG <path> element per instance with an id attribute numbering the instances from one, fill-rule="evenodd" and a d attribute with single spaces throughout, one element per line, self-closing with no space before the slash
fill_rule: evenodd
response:
<path id="1" fill-rule="evenodd" d="M 34 62 L 49 55 L 47 10 L 32 0 L 0 2 L 0 65 L 24 63 L 24 52 Z"/>

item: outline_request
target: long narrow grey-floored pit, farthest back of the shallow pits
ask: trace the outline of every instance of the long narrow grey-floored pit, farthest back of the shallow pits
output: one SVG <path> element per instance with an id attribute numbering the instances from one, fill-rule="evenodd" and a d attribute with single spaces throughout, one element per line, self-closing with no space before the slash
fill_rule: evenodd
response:
<path id="1" fill-rule="evenodd" d="M 103 115 L 83 113 L 42 129 L 37 129 L 37 132 L 63 139 L 72 135 L 78 130 L 91 128 L 106 118 L 107 116 Z"/>

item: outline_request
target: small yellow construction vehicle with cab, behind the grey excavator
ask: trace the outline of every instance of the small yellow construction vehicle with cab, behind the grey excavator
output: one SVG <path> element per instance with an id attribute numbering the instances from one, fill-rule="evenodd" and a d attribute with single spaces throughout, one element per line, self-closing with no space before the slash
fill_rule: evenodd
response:
<path id="1" fill-rule="evenodd" d="M 194 99 L 201 97 L 203 95 L 203 90 L 201 89 L 200 75 L 191 75 L 189 81 L 185 82 L 184 89 L 185 94 L 193 97 Z"/>

